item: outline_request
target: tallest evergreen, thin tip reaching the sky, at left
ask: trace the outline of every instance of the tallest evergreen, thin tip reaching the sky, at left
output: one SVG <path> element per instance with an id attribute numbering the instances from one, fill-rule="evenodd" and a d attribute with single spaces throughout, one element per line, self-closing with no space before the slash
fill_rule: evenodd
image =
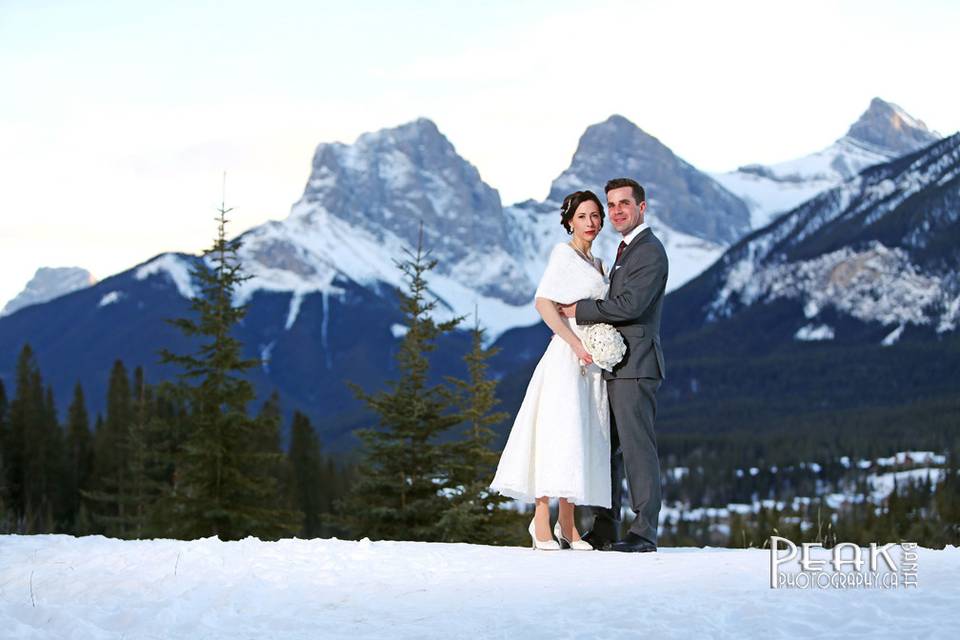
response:
<path id="1" fill-rule="evenodd" d="M 187 538 L 272 537 L 298 525 L 277 508 L 276 481 L 260 472 L 275 460 L 261 449 L 265 423 L 247 414 L 254 391 L 243 373 L 259 361 L 243 359 L 242 344 L 232 335 L 247 312 L 246 306 L 233 306 L 233 296 L 252 276 L 241 273 L 239 238 L 227 240 L 230 211 L 224 205 L 218 209 L 217 238 L 206 255 L 212 268 L 201 259 L 191 269 L 200 283 L 200 294 L 191 300 L 197 318 L 169 320 L 203 342 L 190 354 L 160 351 L 162 362 L 183 368 L 179 379 L 190 407 L 190 430 L 177 454 L 174 508 L 168 513 L 168 522 Z"/>

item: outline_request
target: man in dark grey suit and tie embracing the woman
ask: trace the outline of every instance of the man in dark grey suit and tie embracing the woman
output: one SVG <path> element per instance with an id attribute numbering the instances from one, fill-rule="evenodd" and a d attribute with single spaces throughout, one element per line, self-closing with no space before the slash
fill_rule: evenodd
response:
<path id="1" fill-rule="evenodd" d="M 646 196 L 635 180 L 607 183 L 607 210 L 623 236 L 610 272 L 604 300 L 580 300 L 560 307 L 577 324 L 612 324 L 623 335 L 627 353 L 604 371 L 610 401 L 610 509 L 595 508 L 593 528 L 583 539 L 594 549 L 645 552 L 657 550 L 660 515 L 660 460 L 653 421 L 657 389 L 664 378 L 660 348 L 660 311 L 667 286 L 667 253 L 643 221 Z M 630 530 L 618 541 L 624 472 L 630 504 L 636 513 Z"/>

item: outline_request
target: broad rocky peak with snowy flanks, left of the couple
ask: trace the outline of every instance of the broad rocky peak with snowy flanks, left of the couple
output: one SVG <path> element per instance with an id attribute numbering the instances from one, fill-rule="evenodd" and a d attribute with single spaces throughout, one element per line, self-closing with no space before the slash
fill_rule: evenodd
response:
<path id="1" fill-rule="evenodd" d="M 491 332 L 496 322 L 529 322 L 534 283 L 511 252 L 500 196 L 426 118 L 323 143 L 314 153 L 303 196 L 283 221 L 243 237 L 244 264 L 258 289 L 339 294 L 338 281 L 404 286 L 395 261 L 417 246 L 420 230 L 436 259 L 430 285 L 446 312 L 475 306 Z M 342 282 L 341 282 L 342 284 Z M 504 308 L 505 307 L 505 308 Z M 287 325 L 295 322 L 291 303 Z"/>

